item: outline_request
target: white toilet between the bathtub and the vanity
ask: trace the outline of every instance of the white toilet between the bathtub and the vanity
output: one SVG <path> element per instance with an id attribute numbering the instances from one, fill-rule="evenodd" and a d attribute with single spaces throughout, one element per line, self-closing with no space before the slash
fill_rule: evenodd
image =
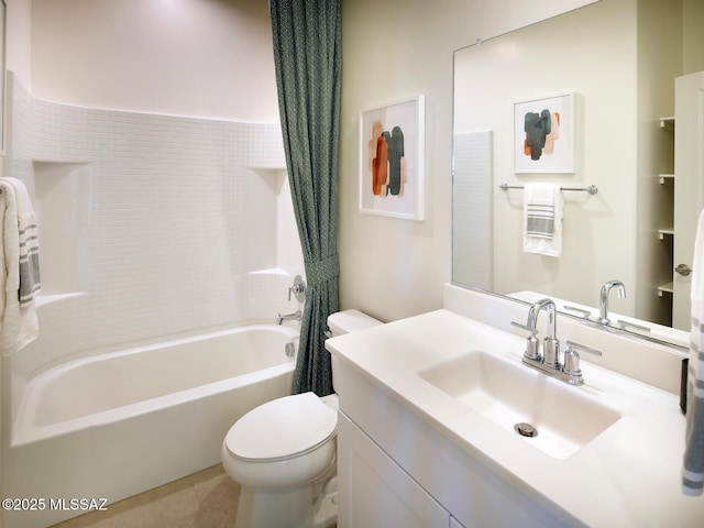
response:
<path id="1" fill-rule="evenodd" d="M 381 324 L 358 310 L 328 318 L 341 336 Z M 332 373 L 334 388 L 334 369 Z M 267 402 L 240 418 L 221 449 L 242 488 L 235 528 L 327 528 L 337 521 L 338 396 L 302 393 Z"/>

